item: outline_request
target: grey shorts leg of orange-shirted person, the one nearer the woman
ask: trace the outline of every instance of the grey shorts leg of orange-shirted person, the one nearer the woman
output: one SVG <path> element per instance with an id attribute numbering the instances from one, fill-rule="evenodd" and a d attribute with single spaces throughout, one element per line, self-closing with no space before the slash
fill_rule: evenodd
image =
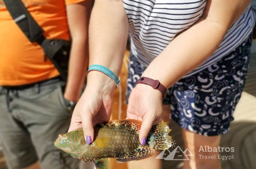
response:
<path id="1" fill-rule="evenodd" d="M 22 110 L 20 115 L 30 132 L 42 169 L 76 169 L 79 166 L 78 159 L 54 146 L 58 135 L 68 131 L 72 115 L 63 98 L 64 85 L 64 82 L 54 82 L 19 91 L 23 99 L 17 105 Z"/>

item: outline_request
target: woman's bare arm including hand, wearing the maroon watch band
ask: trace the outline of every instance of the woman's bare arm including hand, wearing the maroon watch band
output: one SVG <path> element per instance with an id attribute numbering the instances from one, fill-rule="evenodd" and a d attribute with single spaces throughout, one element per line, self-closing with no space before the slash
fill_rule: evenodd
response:
<path id="1" fill-rule="evenodd" d="M 215 52 L 229 27 L 241 16 L 249 3 L 250 0 L 208 0 L 202 17 L 178 35 L 151 62 L 142 76 L 158 79 L 166 88 L 171 87 Z M 146 96 L 142 98 L 138 95 Z M 148 100 L 147 97 L 152 99 Z M 161 120 L 161 97 L 159 91 L 142 84 L 137 85 L 130 95 L 127 117 L 139 115 L 143 119 L 140 140 L 147 137 L 153 123 Z M 135 102 L 136 99 L 138 101 Z M 142 105 L 150 108 L 142 110 Z"/>

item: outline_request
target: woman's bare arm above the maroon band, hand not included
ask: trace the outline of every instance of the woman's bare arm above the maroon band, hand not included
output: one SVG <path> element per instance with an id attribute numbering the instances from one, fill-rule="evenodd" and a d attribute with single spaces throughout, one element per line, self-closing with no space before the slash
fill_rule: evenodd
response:
<path id="1" fill-rule="evenodd" d="M 250 0 L 208 0 L 202 17 L 178 35 L 148 66 L 143 76 L 159 79 L 166 88 L 172 86 L 215 52 L 249 3 Z M 161 74 L 163 71 L 165 73 Z"/>

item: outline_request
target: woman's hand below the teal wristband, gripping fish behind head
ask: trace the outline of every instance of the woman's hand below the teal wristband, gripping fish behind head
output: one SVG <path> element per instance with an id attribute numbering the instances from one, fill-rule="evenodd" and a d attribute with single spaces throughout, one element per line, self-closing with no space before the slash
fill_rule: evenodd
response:
<path id="1" fill-rule="evenodd" d="M 74 108 L 68 131 L 83 128 L 86 142 L 91 144 L 94 139 L 93 126 L 110 119 L 115 83 L 101 72 L 91 71 L 89 74 L 101 80 L 88 81 L 83 95 Z"/>

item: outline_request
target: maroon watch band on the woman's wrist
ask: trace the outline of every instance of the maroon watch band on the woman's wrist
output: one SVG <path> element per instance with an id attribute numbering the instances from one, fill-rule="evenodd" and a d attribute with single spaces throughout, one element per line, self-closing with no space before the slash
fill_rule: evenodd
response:
<path id="1" fill-rule="evenodd" d="M 164 85 L 162 85 L 159 82 L 159 80 L 154 80 L 154 79 L 151 79 L 148 77 L 141 77 L 138 79 L 136 84 L 138 84 L 138 83 L 143 83 L 143 84 L 151 86 L 154 89 L 159 90 L 163 94 L 163 97 L 165 97 L 165 95 L 166 95 L 166 88 L 164 87 Z"/>

